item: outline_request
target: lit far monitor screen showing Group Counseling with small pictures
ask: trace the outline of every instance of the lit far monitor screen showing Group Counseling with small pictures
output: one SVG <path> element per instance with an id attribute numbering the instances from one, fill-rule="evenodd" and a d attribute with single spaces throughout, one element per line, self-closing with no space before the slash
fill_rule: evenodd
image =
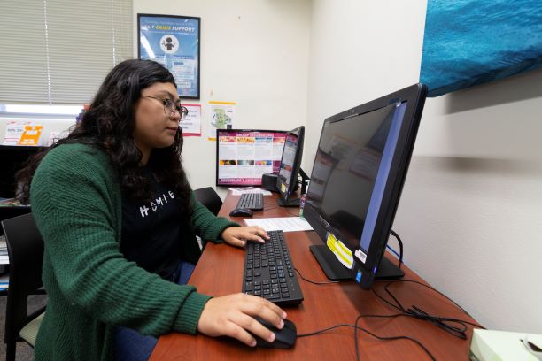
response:
<path id="1" fill-rule="evenodd" d="M 286 131 L 217 129 L 216 185 L 261 186 L 261 176 L 278 173 Z"/>

